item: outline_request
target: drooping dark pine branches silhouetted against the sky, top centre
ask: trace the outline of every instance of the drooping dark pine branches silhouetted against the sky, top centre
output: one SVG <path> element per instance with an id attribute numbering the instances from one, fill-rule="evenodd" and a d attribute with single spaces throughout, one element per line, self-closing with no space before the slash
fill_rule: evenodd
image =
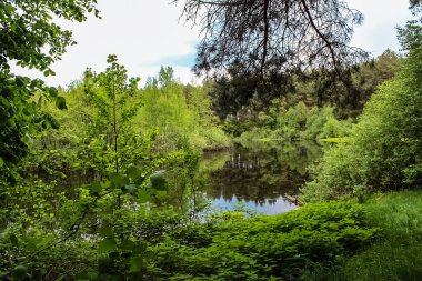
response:
<path id="1" fill-rule="evenodd" d="M 181 0 L 174 0 L 181 2 Z M 195 70 L 240 66 L 262 77 L 322 68 L 341 74 L 366 53 L 350 47 L 363 16 L 341 0 L 184 0 L 183 14 L 204 34 Z"/>

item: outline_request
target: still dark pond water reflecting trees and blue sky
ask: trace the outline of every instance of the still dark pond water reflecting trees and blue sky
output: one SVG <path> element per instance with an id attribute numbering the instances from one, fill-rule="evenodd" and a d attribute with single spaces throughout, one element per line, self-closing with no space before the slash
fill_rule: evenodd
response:
<path id="1" fill-rule="evenodd" d="M 275 214 L 295 209 L 288 198 L 307 181 L 307 168 L 322 154 L 313 142 L 260 142 L 205 153 L 202 197 L 218 210 L 247 209 Z"/>

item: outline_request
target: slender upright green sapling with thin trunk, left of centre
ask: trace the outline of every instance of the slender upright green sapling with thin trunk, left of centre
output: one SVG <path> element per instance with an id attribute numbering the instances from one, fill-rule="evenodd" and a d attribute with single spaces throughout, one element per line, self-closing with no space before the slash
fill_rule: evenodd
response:
<path id="1" fill-rule="evenodd" d="M 135 150 L 131 149 L 131 142 L 135 139 L 134 130 L 130 128 L 141 106 L 138 89 L 140 79 L 129 79 L 127 69 L 118 63 L 117 56 L 109 56 L 107 62 L 110 66 L 99 74 L 87 70 L 86 79 L 91 79 L 92 83 L 86 81 L 84 91 L 96 112 L 91 136 L 104 136 L 105 150 L 112 148 L 114 153 L 113 171 L 119 173 L 124 168 L 122 162 L 128 163 L 131 162 L 129 159 L 135 158 Z"/>

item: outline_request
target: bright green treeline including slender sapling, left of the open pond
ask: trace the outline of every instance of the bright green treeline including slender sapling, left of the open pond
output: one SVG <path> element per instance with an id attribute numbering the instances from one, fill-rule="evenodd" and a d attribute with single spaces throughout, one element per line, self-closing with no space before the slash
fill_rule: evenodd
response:
<path id="1" fill-rule="evenodd" d="M 139 79 L 129 79 L 115 57 L 109 62 L 104 72 L 87 70 L 60 89 L 61 108 L 40 94 L 33 98 L 51 123 L 34 139 L 28 165 L 105 177 L 178 150 L 231 145 L 203 87 L 179 83 L 168 67 L 139 88 Z"/>

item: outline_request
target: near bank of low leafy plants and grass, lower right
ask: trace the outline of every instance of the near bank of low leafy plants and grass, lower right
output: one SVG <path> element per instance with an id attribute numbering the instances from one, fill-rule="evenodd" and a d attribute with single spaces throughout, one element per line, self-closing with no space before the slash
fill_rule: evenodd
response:
<path id="1" fill-rule="evenodd" d="M 178 249 L 171 274 L 181 280 L 422 280 L 422 191 L 219 219 L 197 229 L 201 234 L 187 244 L 173 239 L 159 248 L 158 253 Z"/>

